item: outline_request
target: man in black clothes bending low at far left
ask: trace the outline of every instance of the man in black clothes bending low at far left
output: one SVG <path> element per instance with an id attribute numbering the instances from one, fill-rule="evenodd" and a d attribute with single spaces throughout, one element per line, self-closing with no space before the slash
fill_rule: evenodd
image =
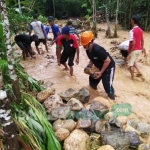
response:
<path id="1" fill-rule="evenodd" d="M 23 59 L 25 60 L 26 57 L 29 57 L 29 54 L 31 58 L 35 58 L 33 55 L 31 43 L 33 41 L 38 41 L 38 36 L 33 34 L 32 36 L 27 34 L 19 34 L 15 36 L 15 42 L 16 44 L 21 48 Z"/>

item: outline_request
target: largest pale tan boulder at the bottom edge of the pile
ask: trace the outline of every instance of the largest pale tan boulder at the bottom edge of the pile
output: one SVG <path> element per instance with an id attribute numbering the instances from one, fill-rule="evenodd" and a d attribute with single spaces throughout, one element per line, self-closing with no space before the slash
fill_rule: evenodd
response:
<path id="1" fill-rule="evenodd" d="M 87 140 L 89 136 L 86 132 L 75 129 L 64 141 L 64 150 L 87 150 Z"/>

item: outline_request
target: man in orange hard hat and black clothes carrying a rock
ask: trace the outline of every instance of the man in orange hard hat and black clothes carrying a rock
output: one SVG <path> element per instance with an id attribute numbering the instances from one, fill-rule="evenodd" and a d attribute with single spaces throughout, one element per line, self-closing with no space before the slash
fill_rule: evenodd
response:
<path id="1" fill-rule="evenodd" d="M 85 31 L 81 35 L 81 45 L 86 49 L 86 54 L 90 59 L 87 67 L 93 66 L 93 64 L 99 68 L 100 71 L 95 72 L 93 78 L 89 76 L 90 86 L 97 90 L 97 85 L 102 79 L 103 87 L 108 97 L 115 100 L 114 88 L 112 86 L 114 73 L 115 73 L 115 62 L 109 53 L 98 44 L 93 43 L 93 33 L 91 31 Z"/>

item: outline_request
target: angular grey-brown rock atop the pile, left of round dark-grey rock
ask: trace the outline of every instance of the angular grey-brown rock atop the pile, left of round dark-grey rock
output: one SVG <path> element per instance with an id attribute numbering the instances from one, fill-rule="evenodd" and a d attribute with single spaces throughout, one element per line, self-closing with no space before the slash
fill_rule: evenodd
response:
<path id="1" fill-rule="evenodd" d="M 65 101 L 69 101 L 71 98 L 76 98 L 78 91 L 69 88 L 66 91 L 59 93 L 58 95 Z"/>

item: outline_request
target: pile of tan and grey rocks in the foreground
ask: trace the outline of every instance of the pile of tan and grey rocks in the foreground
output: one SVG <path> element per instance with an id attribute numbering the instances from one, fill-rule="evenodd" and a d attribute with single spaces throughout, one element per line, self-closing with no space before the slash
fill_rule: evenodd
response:
<path id="1" fill-rule="evenodd" d="M 109 100 L 97 97 L 89 102 L 86 88 L 55 94 L 47 87 L 37 99 L 43 103 L 64 150 L 150 150 L 146 144 L 150 125 L 132 115 L 113 116 Z"/>

